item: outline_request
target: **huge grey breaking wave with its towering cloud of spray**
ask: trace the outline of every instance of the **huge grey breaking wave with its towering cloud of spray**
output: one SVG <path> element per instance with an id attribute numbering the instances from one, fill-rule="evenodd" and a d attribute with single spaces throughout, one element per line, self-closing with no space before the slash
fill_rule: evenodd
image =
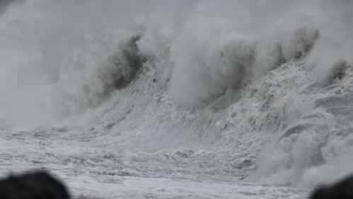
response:
<path id="1" fill-rule="evenodd" d="M 215 169 L 262 183 L 338 178 L 353 161 L 352 10 L 346 0 L 8 5 L 0 127 L 197 142 L 228 155 Z"/>

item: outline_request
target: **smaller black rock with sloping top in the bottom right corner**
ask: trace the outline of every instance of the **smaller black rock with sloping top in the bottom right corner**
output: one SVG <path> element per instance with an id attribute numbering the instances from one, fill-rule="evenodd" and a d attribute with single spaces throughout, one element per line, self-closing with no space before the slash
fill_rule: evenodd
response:
<path id="1" fill-rule="evenodd" d="M 353 176 L 344 178 L 332 186 L 318 188 L 310 199 L 353 199 Z"/>

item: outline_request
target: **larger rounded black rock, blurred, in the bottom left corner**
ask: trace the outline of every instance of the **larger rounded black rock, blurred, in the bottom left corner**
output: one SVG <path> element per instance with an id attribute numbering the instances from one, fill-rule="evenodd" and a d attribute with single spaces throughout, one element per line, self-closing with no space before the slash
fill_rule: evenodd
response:
<path id="1" fill-rule="evenodd" d="M 47 171 L 11 175 L 0 180 L 0 199 L 69 199 L 63 183 Z"/>

